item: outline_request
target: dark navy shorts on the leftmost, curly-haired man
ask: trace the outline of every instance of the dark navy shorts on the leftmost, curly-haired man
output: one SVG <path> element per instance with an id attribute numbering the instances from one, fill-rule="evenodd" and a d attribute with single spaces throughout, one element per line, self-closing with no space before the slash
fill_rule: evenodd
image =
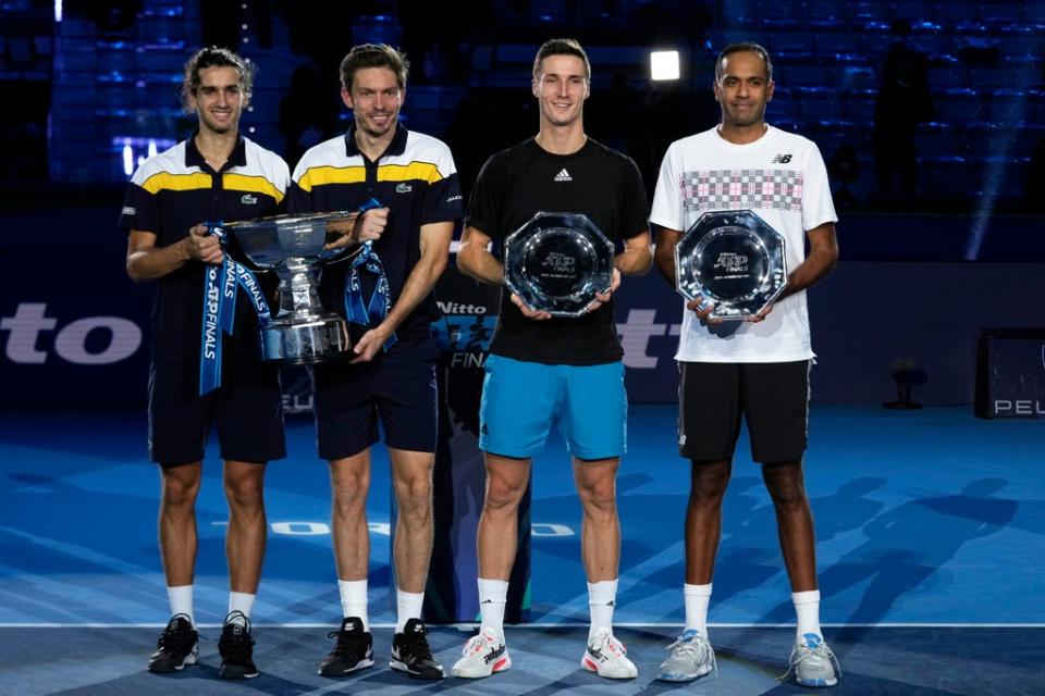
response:
<path id="1" fill-rule="evenodd" d="M 152 361 L 149 457 L 172 467 L 200 461 L 211 423 L 222 459 L 263 463 L 286 457 L 280 369 L 229 355 L 222 386 L 199 396 L 196 362 Z"/>

